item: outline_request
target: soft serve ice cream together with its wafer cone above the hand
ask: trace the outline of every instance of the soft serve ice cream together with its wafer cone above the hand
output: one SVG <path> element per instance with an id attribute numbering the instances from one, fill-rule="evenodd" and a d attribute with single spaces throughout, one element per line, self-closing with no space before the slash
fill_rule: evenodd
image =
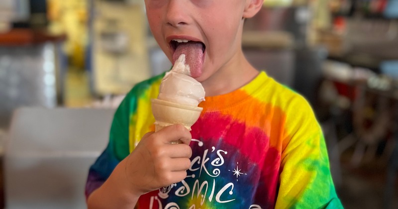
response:
<path id="1" fill-rule="evenodd" d="M 202 101 L 203 86 L 190 76 L 190 66 L 185 63 L 185 54 L 181 54 L 163 78 L 158 99 L 152 99 L 155 131 L 172 124 L 182 124 L 191 130 L 203 109 L 198 107 Z"/>

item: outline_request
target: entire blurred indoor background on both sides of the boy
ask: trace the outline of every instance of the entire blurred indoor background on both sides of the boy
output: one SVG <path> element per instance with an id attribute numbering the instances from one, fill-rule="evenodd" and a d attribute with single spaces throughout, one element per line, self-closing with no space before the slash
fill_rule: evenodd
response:
<path id="1" fill-rule="evenodd" d="M 242 47 L 312 105 L 345 208 L 398 208 L 398 0 L 266 0 Z M 0 0 L 0 207 L 85 208 L 114 109 L 170 67 L 142 0 Z"/>

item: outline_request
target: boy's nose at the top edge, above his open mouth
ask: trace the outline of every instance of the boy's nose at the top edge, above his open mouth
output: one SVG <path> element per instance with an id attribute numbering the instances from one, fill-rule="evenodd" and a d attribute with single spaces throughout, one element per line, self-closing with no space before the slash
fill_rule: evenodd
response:
<path id="1" fill-rule="evenodd" d="M 166 11 L 167 24 L 173 27 L 179 27 L 188 23 L 186 0 L 169 0 Z"/>

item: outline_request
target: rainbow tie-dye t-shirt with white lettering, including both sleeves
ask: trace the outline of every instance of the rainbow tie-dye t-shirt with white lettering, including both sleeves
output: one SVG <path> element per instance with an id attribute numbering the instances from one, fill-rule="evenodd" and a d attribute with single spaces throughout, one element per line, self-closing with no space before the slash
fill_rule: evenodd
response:
<path id="1" fill-rule="evenodd" d="M 90 169 L 87 196 L 154 130 L 150 99 L 157 97 L 162 77 L 136 85 L 116 110 L 109 144 Z M 188 176 L 141 196 L 137 208 L 343 208 L 321 128 L 297 93 L 261 72 L 199 106 Z"/>

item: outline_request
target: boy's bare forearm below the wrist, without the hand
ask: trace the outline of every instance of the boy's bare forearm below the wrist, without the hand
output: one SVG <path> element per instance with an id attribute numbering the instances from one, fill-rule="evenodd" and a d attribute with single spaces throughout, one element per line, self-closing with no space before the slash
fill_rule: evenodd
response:
<path id="1" fill-rule="evenodd" d="M 139 195 L 130 188 L 124 173 L 124 161 L 120 162 L 103 185 L 87 200 L 88 209 L 132 209 Z"/>

